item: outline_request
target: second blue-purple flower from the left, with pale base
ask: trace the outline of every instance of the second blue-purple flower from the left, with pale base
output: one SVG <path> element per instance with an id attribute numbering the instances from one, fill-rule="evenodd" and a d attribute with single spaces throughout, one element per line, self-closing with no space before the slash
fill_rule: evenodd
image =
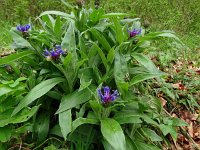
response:
<path id="1" fill-rule="evenodd" d="M 44 56 L 48 61 L 58 60 L 63 54 L 65 54 L 65 52 L 62 50 L 60 45 L 56 45 L 51 51 L 48 51 L 47 49 L 44 50 Z"/>

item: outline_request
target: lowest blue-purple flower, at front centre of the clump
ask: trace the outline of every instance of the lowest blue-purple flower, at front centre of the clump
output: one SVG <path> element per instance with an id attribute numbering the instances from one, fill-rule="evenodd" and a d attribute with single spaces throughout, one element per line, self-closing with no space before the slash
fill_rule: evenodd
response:
<path id="1" fill-rule="evenodd" d="M 102 94 L 101 89 L 98 89 L 98 95 L 101 99 L 101 102 L 103 104 L 108 104 L 110 102 L 113 102 L 114 100 L 116 100 L 116 98 L 119 97 L 119 93 L 117 90 L 113 91 L 113 93 L 111 94 L 110 92 L 110 88 L 108 86 L 103 88 L 104 90 L 104 94 Z"/>

